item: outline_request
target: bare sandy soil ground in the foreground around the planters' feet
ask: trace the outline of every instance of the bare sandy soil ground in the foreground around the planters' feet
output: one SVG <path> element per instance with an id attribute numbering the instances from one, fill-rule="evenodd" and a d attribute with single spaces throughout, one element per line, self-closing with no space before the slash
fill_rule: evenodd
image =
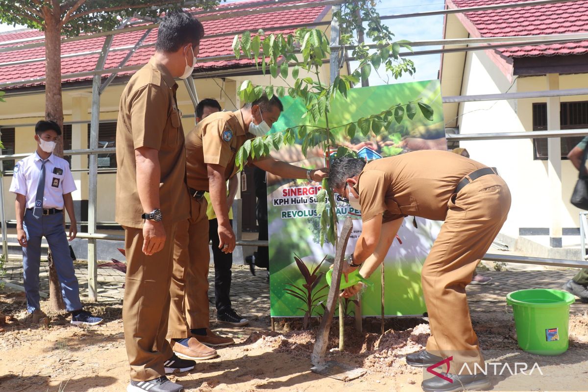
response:
<path id="1" fill-rule="evenodd" d="M 128 364 L 121 306 L 89 306 L 94 313 L 104 317 L 106 323 L 76 327 L 69 324 L 65 313 L 49 314 L 49 326 L 35 325 L 26 318 L 24 303 L 22 293 L 0 294 L 0 311 L 9 315 L 1 319 L 8 323 L 0 334 L 0 391 L 126 390 Z M 517 348 L 510 316 L 477 312 L 473 319 L 482 349 L 524 354 Z M 353 328 L 352 319 L 346 320 L 346 350 L 332 349 L 329 356 L 367 370 L 365 376 L 346 382 L 310 371 L 310 352 L 318 320 L 313 320 L 312 330 L 305 331 L 300 329 L 299 320 L 282 319 L 276 322 L 275 332 L 270 331 L 269 321 L 269 317 L 254 319 L 245 328 L 213 326 L 219 333 L 234 337 L 237 344 L 219 349 L 218 358 L 198 363 L 192 372 L 169 378 L 185 386 L 186 391 L 201 392 L 421 390 L 423 370 L 406 366 L 404 357 L 422 349 L 426 343 L 429 326 L 422 319 L 387 320 L 383 336 L 379 333 L 379 320 L 365 319 L 362 333 Z M 333 348 L 338 347 L 339 341 L 337 322 L 333 323 L 329 337 Z M 492 377 L 494 390 L 553 390 L 558 386 L 559 390 L 588 389 L 582 387 L 588 378 L 586 314 L 572 316 L 570 337 L 570 350 L 562 356 L 527 354 L 525 357 L 526 360 L 540 361 L 546 376 L 552 375 L 548 377 L 552 384 L 550 381 L 533 382 L 530 388 L 528 378 L 517 381 L 517 377 Z M 560 377 L 553 377 L 556 373 Z M 579 384 L 574 377 L 584 381 Z M 567 380 L 567 384 L 562 384 L 561 380 Z M 581 386 L 576 388 L 577 385 Z"/>

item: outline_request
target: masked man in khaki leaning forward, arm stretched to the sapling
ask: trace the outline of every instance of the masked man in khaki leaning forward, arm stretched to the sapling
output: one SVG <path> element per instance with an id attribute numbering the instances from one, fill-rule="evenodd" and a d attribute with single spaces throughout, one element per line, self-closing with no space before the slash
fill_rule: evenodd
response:
<path id="1" fill-rule="evenodd" d="M 191 217 L 180 224 L 185 225 L 181 231 L 178 229 L 173 269 L 173 280 L 185 284 L 172 285 L 168 327 L 172 349 L 179 357 L 208 357 L 212 353 L 205 351 L 200 341 L 212 345 L 227 339 L 212 334 L 209 329 L 209 227 L 204 193 L 210 192 L 218 220 L 219 249 L 231 253 L 235 249 L 235 233 L 229 223 L 226 181 L 238 172 L 235 155 L 246 140 L 265 135 L 282 110 L 282 102 L 277 96 L 268 99 L 264 95 L 235 112 L 212 113 L 186 136 Z M 320 181 L 327 176 L 323 170 L 307 170 L 269 157 L 252 163 L 266 172 L 286 178 Z M 178 249 L 183 252 L 178 252 Z M 188 252 L 185 252 L 186 249 Z M 236 314 L 218 315 L 219 318 L 222 316 L 239 318 Z"/>

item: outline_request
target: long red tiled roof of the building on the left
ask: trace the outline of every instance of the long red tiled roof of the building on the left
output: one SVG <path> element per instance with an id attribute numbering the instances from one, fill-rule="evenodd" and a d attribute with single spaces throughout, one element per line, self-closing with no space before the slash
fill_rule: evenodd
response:
<path id="1" fill-rule="evenodd" d="M 259 3 L 265 0 L 253 0 L 248 2 L 239 2 L 239 5 L 242 4 L 251 4 L 251 9 L 253 8 L 267 8 L 268 6 L 256 6 L 256 3 Z M 302 0 L 301 2 L 308 2 L 310 7 L 309 8 L 302 8 L 302 9 L 290 9 L 287 11 L 275 11 L 269 12 L 268 14 L 257 14 L 257 15 L 247 15 L 247 16 L 239 16 L 233 18 L 225 18 L 216 21 L 204 21 L 202 22 L 206 35 L 209 34 L 218 34 L 223 32 L 229 31 L 240 31 L 240 30 L 247 30 L 250 31 L 257 31 L 260 28 L 263 28 L 266 32 L 283 32 L 289 33 L 292 32 L 292 29 L 272 29 L 279 26 L 285 25 L 293 25 L 293 24 L 306 24 L 319 21 L 324 15 L 324 11 L 326 11 L 325 6 L 315 6 L 312 7 L 312 2 L 318 0 Z M 276 2 L 279 4 L 279 2 Z M 234 6 L 235 3 L 220 5 L 220 11 L 222 13 L 223 8 L 230 8 Z M 229 12 L 228 9 L 226 12 Z M 145 31 L 134 31 L 128 33 L 120 33 L 114 36 L 111 44 L 111 49 L 121 48 L 122 46 L 133 46 L 135 43 L 141 38 L 141 36 L 145 33 Z M 4 48 L 6 46 L 15 46 L 17 44 L 2 44 L 2 42 L 7 41 L 14 41 L 17 39 L 24 39 L 24 38 L 32 38 L 38 36 L 39 38 L 43 38 L 43 33 L 35 30 L 25 29 L 16 32 L 10 33 L 2 33 L 0 34 L 0 48 Z M 151 33 L 145 38 L 143 44 L 146 43 L 155 43 L 157 38 L 157 29 L 153 29 Z M 62 56 L 66 56 L 72 53 L 81 53 L 81 52 L 91 52 L 91 51 L 100 51 L 102 49 L 102 45 L 104 43 L 105 37 L 98 37 L 92 39 L 85 39 L 82 41 L 74 41 L 74 42 L 67 42 L 61 46 L 61 54 Z M 39 42 L 39 41 L 30 41 L 26 43 L 32 42 Z M 230 55 L 233 53 L 232 50 L 232 42 L 233 36 L 222 36 L 212 39 L 203 39 L 200 45 L 200 54 L 199 58 L 204 57 L 211 57 L 211 56 L 223 56 L 223 55 Z M 18 44 L 18 45 L 22 45 Z M 142 65 L 149 61 L 149 58 L 153 55 L 155 49 L 153 46 L 148 48 L 141 48 L 138 49 L 131 58 L 126 62 L 125 66 L 133 66 L 133 65 Z M 115 51 L 110 52 L 108 57 L 106 58 L 105 68 L 115 68 L 119 65 L 122 59 L 128 53 L 127 50 L 125 51 Z M 12 52 L 3 52 L 0 53 L 0 63 L 12 62 L 12 61 L 21 61 L 21 60 L 28 60 L 28 59 L 42 59 L 45 57 L 45 47 L 40 48 L 29 48 L 29 49 L 22 49 L 19 51 L 12 51 Z M 86 54 L 86 55 L 78 55 L 74 57 L 62 57 L 61 59 L 61 72 L 62 74 L 68 73 L 76 73 L 76 72 L 86 72 L 86 71 L 93 71 L 96 67 L 96 61 L 98 59 L 98 53 L 96 54 Z M 215 62 L 198 62 L 196 66 L 196 72 L 198 71 L 209 71 L 211 69 L 228 69 L 228 68 L 240 68 L 243 66 L 253 65 L 253 61 L 247 58 L 240 60 L 230 60 L 230 61 L 215 61 Z M 121 72 L 118 73 L 119 76 L 123 75 L 130 75 L 135 71 L 130 72 Z M 108 75 L 103 75 L 108 76 Z M 17 82 L 17 81 L 25 81 L 27 79 L 36 79 L 36 78 L 44 78 L 45 77 L 45 61 L 41 60 L 38 62 L 31 62 L 21 65 L 12 65 L 12 66 L 5 66 L 0 68 L 0 83 L 6 82 Z M 73 78 L 73 79 L 64 79 L 63 82 L 76 82 L 76 81 L 84 81 L 90 80 L 92 76 L 86 76 L 84 78 Z M 15 89 L 21 87 L 28 87 L 28 86 L 35 86 L 35 85 L 43 85 L 44 83 L 28 83 L 18 86 L 12 86 L 6 89 Z"/>

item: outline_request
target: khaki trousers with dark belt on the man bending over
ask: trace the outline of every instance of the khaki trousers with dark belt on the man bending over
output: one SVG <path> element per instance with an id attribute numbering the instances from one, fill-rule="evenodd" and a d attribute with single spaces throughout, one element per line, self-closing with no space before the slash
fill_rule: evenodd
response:
<path id="1" fill-rule="evenodd" d="M 425 260 L 422 284 L 431 328 L 426 349 L 444 359 L 453 357 L 449 373 L 459 374 L 465 363 L 472 372 L 476 363 L 483 368 L 466 285 L 509 209 L 510 191 L 499 176 L 486 175 L 469 183 L 449 201 L 445 223 Z"/>

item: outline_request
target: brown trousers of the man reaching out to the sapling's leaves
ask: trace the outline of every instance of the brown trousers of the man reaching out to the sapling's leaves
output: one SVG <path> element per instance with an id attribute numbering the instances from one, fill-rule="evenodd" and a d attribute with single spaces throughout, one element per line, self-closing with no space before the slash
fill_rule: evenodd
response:
<path id="1" fill-rule="evenodd" d="M 191 197 L 191 216 L 178 223 L 173 249 L 172 283 L 169 289 L 168 339 L 190 337 L 191 329 L 209 327 L 208 216 L 206 199 Z"/>

